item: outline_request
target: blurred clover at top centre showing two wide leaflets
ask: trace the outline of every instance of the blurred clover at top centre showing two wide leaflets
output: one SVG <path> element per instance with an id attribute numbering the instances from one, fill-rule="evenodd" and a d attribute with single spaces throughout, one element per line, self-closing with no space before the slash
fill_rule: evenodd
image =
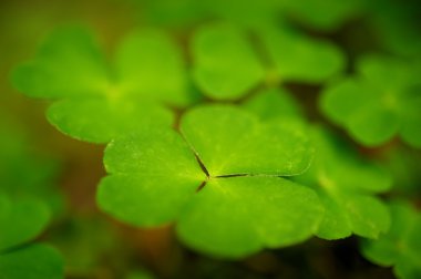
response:
<path id="1" fill-rule="evenodd" d="M 257 45 L 244 30 L 228 23 L 196 31 L 192 39 L 193 75 L 205 94 L 236 100 L 265 81 L 318 83 L 343 68 L 343 55 L 328 42 L 271 25 L 255 33 Z"/>

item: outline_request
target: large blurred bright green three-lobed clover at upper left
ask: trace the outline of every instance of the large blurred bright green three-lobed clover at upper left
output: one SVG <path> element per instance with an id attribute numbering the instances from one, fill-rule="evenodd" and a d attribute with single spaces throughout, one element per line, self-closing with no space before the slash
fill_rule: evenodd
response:
<path id="1" fill-rule="evenodd" d="M 158 102 L 189 102 L 182 54 L 160 31 L 127 35 L 109 65 L 89 32 L 58 30 L 37 58 L 13 73 L 29 96 L 59 100 L 48 111 L 61 132 L 104 143 L 148 123 L 171 125 L 172 113 Z"/>

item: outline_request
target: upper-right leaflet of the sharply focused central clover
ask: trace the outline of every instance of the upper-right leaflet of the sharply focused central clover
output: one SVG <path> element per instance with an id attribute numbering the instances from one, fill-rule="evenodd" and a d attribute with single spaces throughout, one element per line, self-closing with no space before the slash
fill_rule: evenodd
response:
<path id="1" fill-rule="evenodd" d="M 235 107 L 192 110 L 184 115 L 181 131 L 210 176 L 297 175 L 307 169 L 312 158 L 308 137 L 297 123 L 259 123 Z"/>

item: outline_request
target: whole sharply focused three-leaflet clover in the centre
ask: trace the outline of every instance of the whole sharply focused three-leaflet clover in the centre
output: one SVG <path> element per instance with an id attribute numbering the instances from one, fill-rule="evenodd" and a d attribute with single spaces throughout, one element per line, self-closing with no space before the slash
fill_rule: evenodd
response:
<path id="1" fill-rule="evenodd" d="M 176 223 L 179 238 L 213 256 L 238 258 L 305 240 L 322 208 L 314 190 L 280 176 L 305 172 L 305 133 L 260 123 L 232 106 L 185 114 L 181 134 L 150 127 L 106 148 L 101 208 L 135 226 Z"/>

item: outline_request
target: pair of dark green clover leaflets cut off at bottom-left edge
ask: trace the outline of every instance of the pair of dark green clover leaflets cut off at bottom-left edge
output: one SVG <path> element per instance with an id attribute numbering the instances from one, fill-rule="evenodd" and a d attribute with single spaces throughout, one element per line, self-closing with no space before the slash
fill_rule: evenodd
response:
<path id="1" fill-rule="evenodd" d="M 63 262 L 51 247 L 25 245 L 39 236 L 50 220 L 50 210 L 38 199 L 11 199 L 0 193 L 1 278 L 63 278 Z"/>

